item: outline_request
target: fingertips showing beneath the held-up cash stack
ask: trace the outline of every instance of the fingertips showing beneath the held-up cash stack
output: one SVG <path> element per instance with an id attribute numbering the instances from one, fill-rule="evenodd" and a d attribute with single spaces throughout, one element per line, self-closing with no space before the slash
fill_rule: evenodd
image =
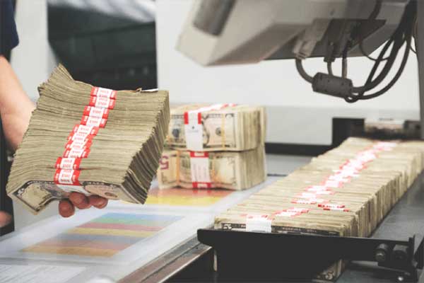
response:
<path id="1" fill-rule="evenodd" d="M 75 213 L 75 207 L 78 209 L 88 209 L 90 207 L 97 207 L 102 209 L 106 207 L 107 199 L 99 197 L 98 195 L 86 195 L 80 192 L 71 192 L 69 200 L 61 200 L 59 202 L 59 214 L 63 217 L 70 217 Z"/>

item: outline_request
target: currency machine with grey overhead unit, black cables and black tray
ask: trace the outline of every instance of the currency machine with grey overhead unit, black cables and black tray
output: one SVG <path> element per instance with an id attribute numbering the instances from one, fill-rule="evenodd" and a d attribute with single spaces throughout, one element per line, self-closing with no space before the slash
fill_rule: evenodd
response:
<path id="1" fill-rule="evenodd" d="M 396 83 L 411 55 L 411 38 L 415 39 L 420 78 L 417 129 L 424 139 L 424 1 L 197 1 L 177 49 L 206 66 L 294 59 L 293 68 L 314 92 L 355 103 L 381 96 Z M 406 47 L 398 54 L 401 45 Z M 347 57 L 370 57 L 380 46 L 366 83 L 355 86 L 347 76 Z M 389 46 L 393 46 L 391 52 Z M 395 67 L 398 55 L 402 62 Z M 327 74 L 307 74 L 302 63 L 308 57 L 324 57 Z M 341 76 L 332 70 L 336 58 L 342 62 Z M 389 71 L 394 73 L 389 83 L 382 83 Z M 423 218 L 418 202 L 424 192 L 422 179 L 423 175 L 371 238 L 214 229 L 200 229 L 197 236 L 213 247 L 218 282 L 305 280 L 341 258 L 374 262 L 374 271 L 367 277 L 365 267 L 351 264 L 352 269 L 338 282 L 416 282 L 424 263 L 424 221 L 417 221 Z"/>

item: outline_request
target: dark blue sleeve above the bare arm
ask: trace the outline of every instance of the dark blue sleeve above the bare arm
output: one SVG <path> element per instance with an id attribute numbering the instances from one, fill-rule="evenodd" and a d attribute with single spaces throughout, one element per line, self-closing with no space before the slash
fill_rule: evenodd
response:
<path id="1" fill-rule="evenodd" d="M 6 54 L 18 43 L 12 1 L 0 0 L 0 54 Z"/>

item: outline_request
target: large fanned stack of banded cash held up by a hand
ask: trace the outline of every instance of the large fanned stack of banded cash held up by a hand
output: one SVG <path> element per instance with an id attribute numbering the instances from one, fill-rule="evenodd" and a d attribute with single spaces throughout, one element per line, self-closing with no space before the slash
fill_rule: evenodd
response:
<path id="1" fill-rule="evenodd" d="M 7 192 L 31 212 L 70 192 L 143 203 L 163 151 L 167 91 L 112 91 L 59 66 L 13 161 Z"/>

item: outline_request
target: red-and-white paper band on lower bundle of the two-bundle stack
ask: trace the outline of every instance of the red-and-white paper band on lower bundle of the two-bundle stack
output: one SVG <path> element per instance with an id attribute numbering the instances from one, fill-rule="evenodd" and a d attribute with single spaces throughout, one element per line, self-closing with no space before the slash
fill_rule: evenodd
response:
<path id="1" fill-rule="evenodd" d="M 190 151 L 190 171 L 194 188 L 211 188 L 209 173 L 209 154 L 207 152 Z"/>

